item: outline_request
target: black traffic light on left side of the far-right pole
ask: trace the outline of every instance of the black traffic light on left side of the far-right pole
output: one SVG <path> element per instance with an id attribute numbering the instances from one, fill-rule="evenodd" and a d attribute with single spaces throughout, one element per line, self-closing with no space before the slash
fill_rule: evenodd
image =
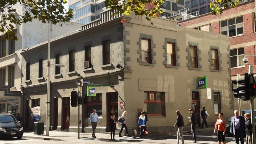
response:
<path id="1" fill-rule="evenodd" d="M 233 89 L 235 98 L 245 99 L 249 96 L 249 82 L 250 79 L 248 73 L 245 73 L 244 78 L 239 78 L 237 80 L 237 88 Z"/>

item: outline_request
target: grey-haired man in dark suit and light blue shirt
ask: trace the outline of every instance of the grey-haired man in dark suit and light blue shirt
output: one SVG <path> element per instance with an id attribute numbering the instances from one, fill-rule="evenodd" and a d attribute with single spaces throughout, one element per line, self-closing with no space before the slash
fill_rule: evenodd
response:
<path id="1" fill-rule="evenodd" d="M 230 133 L 235 136 L 236 144 L 239 144 L 239 138 L 241 144 L 244 144 L 243 136 L 245 134 L 245 118 L 243 116 L 239 116 L 239 112 L 237 110 L 234 111 L 234 115 L 231 118 L 230 122 Z"/>

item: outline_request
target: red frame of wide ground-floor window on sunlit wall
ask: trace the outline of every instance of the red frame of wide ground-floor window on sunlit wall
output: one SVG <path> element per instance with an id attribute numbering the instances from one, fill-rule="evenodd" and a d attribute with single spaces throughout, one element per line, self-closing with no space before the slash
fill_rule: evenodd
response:
<path id="1" fill-rule="evenodd" d="M 152 104 L 161 104 L 161 114 L 148 114 L 148 116 L 165 116 L 165 92 L 152 92 L 152 91 L 144 91 L 144 94 L 147 93 L 148 99 L 145 100 L 144 98 L 144 103 L 152 103 Z M 156 93 L 161 94 L 161 100 L 157 100 L 157 95 Z M 150 99 L 150 94 L 154 94 L 154 99 Z M 144 96 L 144 95 L 143 95 Z"/>

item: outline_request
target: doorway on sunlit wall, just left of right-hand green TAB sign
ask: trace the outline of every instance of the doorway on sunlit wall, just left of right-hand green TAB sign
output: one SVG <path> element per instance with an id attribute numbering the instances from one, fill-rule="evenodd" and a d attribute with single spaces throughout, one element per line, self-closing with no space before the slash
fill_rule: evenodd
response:
<path id="1" fill-rule="evenodd" d="M 197 117 L 197 125 L 198 127 L 201 126 L 200 121 L 200 99 L 199 99 L 199 92 L 192 92 L 192 108 L 194 110 L 194 113 Z"/>

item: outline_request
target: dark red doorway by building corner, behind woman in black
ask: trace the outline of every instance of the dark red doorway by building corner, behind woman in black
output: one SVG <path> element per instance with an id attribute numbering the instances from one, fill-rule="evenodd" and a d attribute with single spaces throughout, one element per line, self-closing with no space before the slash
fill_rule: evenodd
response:
<path id="1" fill-rule="evenodd" d="M 118 93 L 109 92 L 107 93 L 107 126 L 110 124 L 110 117 L 115 114 L 115 120 L 118 120 Z"/>

